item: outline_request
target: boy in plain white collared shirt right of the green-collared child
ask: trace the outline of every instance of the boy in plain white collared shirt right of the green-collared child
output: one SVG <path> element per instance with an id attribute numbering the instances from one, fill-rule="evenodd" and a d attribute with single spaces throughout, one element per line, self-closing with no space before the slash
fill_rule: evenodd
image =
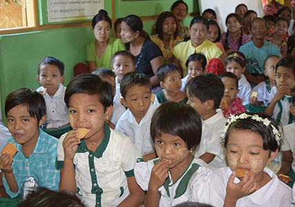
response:
<path id="1" fill-rule="evenodd" d="M 121 80 L 122 103 L 128 108 L 121 115 L 115 130 L 130 137 L 145 161 L 154 159 L 154 145 L 150 137 L 150 121 L 156 106 L 150 104 L 150 79 L 141 72 L 128 72 Z"/>

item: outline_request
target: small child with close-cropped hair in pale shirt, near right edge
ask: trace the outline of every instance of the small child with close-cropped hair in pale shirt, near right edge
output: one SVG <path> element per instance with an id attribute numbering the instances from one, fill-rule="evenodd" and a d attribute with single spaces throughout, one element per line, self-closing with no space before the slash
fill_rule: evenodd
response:
<path id="1" fill-rule="evenodd" d="M 268 77 L 267 81 L 259 83 L 253 88 L 254 92 L 257 92 L 257 97 L 251 97 L 250 103 L 256 106 L 268 106 L 270 99 L 270 91 L 272 87 L 276 86 L 276 63 L 281 59 L 276 55 L 272 55 L 265 59 L 264 63 L 264 75 Z"/>

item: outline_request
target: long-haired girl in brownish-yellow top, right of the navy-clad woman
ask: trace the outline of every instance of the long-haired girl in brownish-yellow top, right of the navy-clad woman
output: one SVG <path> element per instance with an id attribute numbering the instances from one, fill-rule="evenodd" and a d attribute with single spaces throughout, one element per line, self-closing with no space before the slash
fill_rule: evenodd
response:
<path id="1" fill-rule="evenodd" d="M 163 52 L 164 63 L 171 63 L 174 46 L 183 41 L 179 37 L 179 25 L 174 14 L 162 12 L 159 15 L 156 20 L 156 34 L 152 35 L 151 39 Z"/>

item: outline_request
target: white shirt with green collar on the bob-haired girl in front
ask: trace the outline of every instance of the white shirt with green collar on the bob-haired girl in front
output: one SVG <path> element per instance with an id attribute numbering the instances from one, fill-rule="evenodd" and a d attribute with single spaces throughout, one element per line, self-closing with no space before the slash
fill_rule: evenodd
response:
<path id="1" fill-rule="evenodd" d="M 141 161 L 134 168 L 134 175 L 137 184 L 141 189 L 147 191 L 150 182 L 152 168 L 159 162 L 156 158 L 147 162 Z M 201 159 L 193 158 L 189 166 L 187 166 L 183 175 L 174 183 L 169 170 L 169 177 L 165 180 L 163 186 L 159 188 L 161 194 L 159 207 L 176 206 L 185 201 L 191 202 L 207 202 L 207 193 L 204 189 L 210 177 L 211 170 L 207 168 L 207 164 Z"/>

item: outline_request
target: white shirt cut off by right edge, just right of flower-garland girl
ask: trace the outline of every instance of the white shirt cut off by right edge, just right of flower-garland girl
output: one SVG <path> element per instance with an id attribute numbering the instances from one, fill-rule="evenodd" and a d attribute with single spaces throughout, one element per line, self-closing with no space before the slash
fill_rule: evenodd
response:
<path id="1" fill-rule="evenodd" d="M 292 170 L 295 172 L 295 123 L 283 126 L 283 144 L 281 151 L 292 151 Z"/>

